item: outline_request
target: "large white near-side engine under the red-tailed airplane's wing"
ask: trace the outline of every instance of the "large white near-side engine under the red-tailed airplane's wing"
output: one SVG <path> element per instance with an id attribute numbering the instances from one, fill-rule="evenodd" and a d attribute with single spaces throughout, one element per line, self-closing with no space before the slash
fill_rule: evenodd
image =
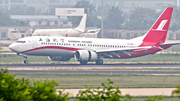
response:
<path id="1" fill-rule="evenodd" d="M 74 54 L 77 61 L 96 61 L 98 59 L 97 53 L 87 50 L 78 50 Z"/>

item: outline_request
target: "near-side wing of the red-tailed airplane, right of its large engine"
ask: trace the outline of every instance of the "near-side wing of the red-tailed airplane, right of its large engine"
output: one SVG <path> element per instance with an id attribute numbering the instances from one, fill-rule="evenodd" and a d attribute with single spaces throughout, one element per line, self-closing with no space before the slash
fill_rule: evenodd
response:
<path id="1" fill-rule="evenodd" d="M 136 48 L 116 48 L 116 49 L 104 49 L 104 50 L 96 50 L 96 53 L 98 53 L 101 56 L 113 58 L 112 55 L 115 55 L 118 58 L 121 58 L 119 54 L 127 54 L 131 56 L 130 52 L 137 52 L 137 51 L 143 51 L 148 50 L 151 48 L 155 48 L 154 46 L 146 46 L 146 47 L 136 47 Z"/>

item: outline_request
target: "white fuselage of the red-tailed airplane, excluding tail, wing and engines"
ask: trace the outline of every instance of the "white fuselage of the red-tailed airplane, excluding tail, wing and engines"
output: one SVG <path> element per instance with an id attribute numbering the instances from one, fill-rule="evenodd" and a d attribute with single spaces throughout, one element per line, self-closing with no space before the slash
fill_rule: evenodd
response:
<path id="1" fill-rule="evenodd" d="M 77 50 L 126 49 L 138 47 L 141 43 L 142 41 L 137 40 L 36 36 L 19 39 L 10 47 L 13 51 L 26 55 L 73 57 Z"/>

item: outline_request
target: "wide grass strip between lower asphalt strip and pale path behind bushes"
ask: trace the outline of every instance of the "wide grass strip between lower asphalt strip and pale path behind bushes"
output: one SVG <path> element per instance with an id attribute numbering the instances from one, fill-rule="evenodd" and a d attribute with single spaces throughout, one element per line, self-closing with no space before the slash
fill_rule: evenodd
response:
<path id="1" fill-rule="evenodd" d="M 107 79 L 120 88 L 175 88 L 180 84 L 180 75 L 100 75 L 100 74 L 16 74 L 16 78 L 30 80 L 55 80 L 57 88 L 101 87 Z"/>

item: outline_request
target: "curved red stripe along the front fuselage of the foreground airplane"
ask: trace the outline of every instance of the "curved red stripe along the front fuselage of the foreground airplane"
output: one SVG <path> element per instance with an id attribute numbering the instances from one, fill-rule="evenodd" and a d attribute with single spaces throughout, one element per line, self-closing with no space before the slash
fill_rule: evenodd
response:
<path id="1" fill-rule="evenodd" d="M 39 47 L 39 48 L 34 48 L 34 49 L 27 50 L 27 51 L 23 51 L 23 52 L 21 52 L 21 53 L 26 53 L 26 52 L 35 51 L 35 50 L 41 50 L 41 49 L 62 49 L 62 50 L 69 50 L 69 51 L 77 51 L 77 50 L 80 50 L 80 49 L 68 48 L 68 47 L 45 46 L 45 47 Z"/>

